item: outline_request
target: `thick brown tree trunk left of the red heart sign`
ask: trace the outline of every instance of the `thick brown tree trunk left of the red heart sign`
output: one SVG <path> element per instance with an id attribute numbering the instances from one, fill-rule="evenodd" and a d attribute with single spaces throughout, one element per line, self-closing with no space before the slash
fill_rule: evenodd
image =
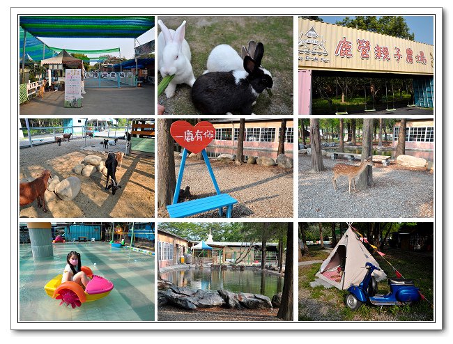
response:
<path id="1" fill-rule="evenodd" d="M 174 140 L 170 135 L 171 122 L 169 118 L 158 120 L 158 208 L 171 204 L 176 187 Z"/>

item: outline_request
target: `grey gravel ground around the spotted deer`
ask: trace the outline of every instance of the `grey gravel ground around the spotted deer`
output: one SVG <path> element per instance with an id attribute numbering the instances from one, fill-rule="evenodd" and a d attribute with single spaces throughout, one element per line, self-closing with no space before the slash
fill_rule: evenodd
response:
<path id="1" fill-rule="evenodd" d="M 311 156 L 299 155 L 299 217 L 433 217 L 432 171 L 377 163 L 374 187 L 350 195 L 345 176 L 337 180 L 337 191 L 332 186 L 332 168 L 345 160 L 323 162 L 325 171 L 310 173 Z"/>

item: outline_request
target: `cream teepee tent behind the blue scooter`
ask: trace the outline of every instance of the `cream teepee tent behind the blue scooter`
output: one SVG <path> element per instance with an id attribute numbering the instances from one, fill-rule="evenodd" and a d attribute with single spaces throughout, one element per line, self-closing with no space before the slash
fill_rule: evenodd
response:
<path id="1" fill-rule="evenodd" d="M 365 268 L 367 262 L 379 267 L 378 262 L 349 227 L 335 249 L 323 261 L 316 276 L 340 290 L 348 289 L 350 286 L 358 286 L 362 282 L 367 274 Z M 387 277 L 383 271 L 378 270 L 373 272 L 373 276 L 376 281 L 382 281 Z"/>

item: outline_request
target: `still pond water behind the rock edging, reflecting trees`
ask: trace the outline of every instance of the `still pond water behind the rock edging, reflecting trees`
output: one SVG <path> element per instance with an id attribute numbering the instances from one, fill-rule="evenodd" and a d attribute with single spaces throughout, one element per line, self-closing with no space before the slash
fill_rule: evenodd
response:
<path id="1" fill-rule="evenodd" d="M 162 279 L 180 287 L 215 291 L 226 289 L 231 292 L 251 292 L 266 295 L 272 299 L 277 292 L 283 291 L 282 276 L 262 273 L 261 270 L 244 271 L 185 269 L 161 273 Z"/>

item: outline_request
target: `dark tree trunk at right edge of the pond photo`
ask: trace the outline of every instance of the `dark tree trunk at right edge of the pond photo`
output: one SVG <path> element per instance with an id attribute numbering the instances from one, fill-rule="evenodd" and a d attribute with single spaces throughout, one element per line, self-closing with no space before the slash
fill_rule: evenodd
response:
<path id="1" fill-rule="evenodd" d="M 288 223 L 285 275 L 282 292 L 282 303 L 277 313 L 277 318 L 293 320 L 293 223 Z"/>

